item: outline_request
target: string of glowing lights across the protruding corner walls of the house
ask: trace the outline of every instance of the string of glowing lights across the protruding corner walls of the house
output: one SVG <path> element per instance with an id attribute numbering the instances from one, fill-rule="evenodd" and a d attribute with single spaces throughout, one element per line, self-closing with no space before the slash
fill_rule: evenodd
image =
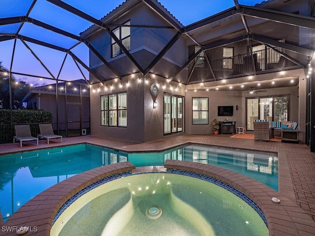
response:
<path id="1" fill-rule="evenodd" d="M 150 78 L 146 78 L 146 77 L 138 77 L 138 78 L 135 78 L 136 77 L 136 75 L 135 75 L 136 73 L 133 73 L 133 74 L 131 74 L 130 76 L 131 76 L 131 80 L 128 80 L 127 82 L 126 82 L 126 84 L 125 84 L 125 86 L 126 86 L 126 88 L 128 88 L 131 84 L 131 81 L 137 81 L 137 83 L 139 84 L 139 83 L 141 83 L 143 80 L 144 80 L 144 83 L 145 84 L 149 84 L 149 79 L 152 79 L 152 78 L 155 78 L 156 77 L 156 74 L 154 74 L 154 73 L 150 73 L 151 74 L 151 77 Z M 119 80 L 118 78 L 115 78 L 114 79 L 114 83 L 118 83 L 118 82 L 120 82 L 121 80 Z M 172 84 L 175 84 L 175 83 L 178 83 L 178 86 L 177 87 L 173 87 L 170 83 L 172 83 Z M 166 86 L 167 85 L 169 85 L 169 89 L 171 90 L 171 91 L 173 91 L 173 90 L 175 90 L 175 91 L 178 91 L 180 88 L 179 87 L 182 87 L 182 83 L 180 83 L 180 82 L 176 82 L 176 81 L 171 81 L 171 80 L 169 80 L 169 79 L 167 79 L 167 78 L 165 78 L 165 83 L 163 84 L 163 83 L 161 83 L 161 84 L 163 84 L 163 85 L 160 85 L 158 82 L 156 82 L 155 83 L 156 85 L 157 85 L 157 87 L 158 88 L 162 88 L 162 89 L 166 89 Z M 112 85 L 110 85 L 110 86 L 106 86 L 106 85 L 104 85 L 104 84 L 102 84 L 102 83 L 97 83 L 97 85 L 100 85 L 97 89 L 93 89 L 92 90 L 92 92 L 93 93 L 95 93 L 95 92 L 100 92 L 101 90 L 105 90 L 105 91 L 108 91 L 108 90 L 113 90 L 114 88 L 115 88 L 115 86 L 112 84 Z M 124 88 L 125 86 L 124 86 L 124 83 L 120 83 L 119 85 L 119 88 Z M 92 85 L 90 85 L 90 88 L 92 88 Z"/>

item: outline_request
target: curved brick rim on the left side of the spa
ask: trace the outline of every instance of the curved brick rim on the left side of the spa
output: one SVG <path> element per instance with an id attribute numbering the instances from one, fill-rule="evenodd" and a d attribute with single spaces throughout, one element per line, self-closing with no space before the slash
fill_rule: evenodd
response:
<path id="1" fill-rule="evenodd" d="M 101 166 L 57 183 L 36 195 L 12 214 L 1 226 L 0 236 L 16 236 L 16 230 L 22 226 L 30 227 L 30 231 L 24 236 L 50 236 L 50 229 L 56 214 L 64 204 L 69 203 L 72 196 L 87 191 L 88 186 L 93 183 L 96 187 L 101 179 L 118 177 L 120 173 L 131 175 L 134 169 L 135 167 L 130 162 L 120 162 Z M 3 232 L 2 229 L 8 229 L 8 227 L 13 228 Z"/>

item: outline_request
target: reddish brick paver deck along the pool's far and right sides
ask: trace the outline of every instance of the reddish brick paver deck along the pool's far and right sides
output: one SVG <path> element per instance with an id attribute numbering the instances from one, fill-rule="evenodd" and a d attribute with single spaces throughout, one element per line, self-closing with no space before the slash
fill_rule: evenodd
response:
<path id="1" fill-rule="evenodd" d="M 310 152 L 310 148 L 306 145 L 233 139 L 229 138 L 229 135 L 180 135 L 143 144 L 104 139 L 95 136 L 80 136 L 64 138 L 63 143 L 60 143 L 58 140 L 52 140 L 49 145 L 45 140 L 40 141 L 39 146 L 36 146 L 35 142 L 25 143 L 22 148 L 20 148 L 17 143 L 3 144 L 0 145 L 0 155 L 4 153 L 51 148 L 78 143 L 90 143 L 125 151 L 160 151 L 187 143 L 195 143 L 229 148 L 278 152 L 279 191 L 283 193 L 286 192 L 285 196 L 296 202 L 296 204 L 315 221 L 315 153 Z M 297 218 L 299 217 L 299 213 L 300 212 L 295 212 L 294 210 L 289 212 L 291 217 L 294 217 L 296 214 Z M 277 215 L 278 212 L 275 212 L 275 217 L 277 217 Z M 285 227 L 285 220 L 283 226 Z M 305 223 L 305 227 L 309 227 L 307 223 Z"/>

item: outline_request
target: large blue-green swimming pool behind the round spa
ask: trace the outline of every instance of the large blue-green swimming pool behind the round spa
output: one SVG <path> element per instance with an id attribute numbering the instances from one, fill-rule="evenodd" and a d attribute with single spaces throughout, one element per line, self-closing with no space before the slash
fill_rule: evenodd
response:
<path id="1" fill-rule="evenodd" d="M 0 212 L 6 221 L 18 208 L 50 186 L 99 166 L 127 160 L 136 167 L 163 166 L 167 159 L 219 166 L 278 191 L 275 153 L 202 145 L 186 145 L 162 152 L 127 153 L 80 144 L 0 156 Z"/>

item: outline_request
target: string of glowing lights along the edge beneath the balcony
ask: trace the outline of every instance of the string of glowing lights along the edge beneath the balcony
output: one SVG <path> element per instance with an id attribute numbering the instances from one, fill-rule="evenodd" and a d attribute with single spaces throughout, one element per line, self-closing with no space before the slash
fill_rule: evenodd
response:
<path id="1" fill-rule="evenodd" d="M 275 84 L 276 83 L 276 80 L 277 79 L 283 79 L 285 77 L 288 78 L 288 80 L 290 80 L 290 83 L 294 83 L 295 81 L 295 78 L 292 78 L 290 75 L 288 75 L 288 71 L 280 71 L 277 73 L 278 76 L 277 78 L 274 78 L 271 80 L 271 83 L 272 84 Z M 284 76 L 285 75 L 285 76 Z M 280 77 L 282 76 L 282 77 Z M 229 79 L 223 79 L 221 80 L 221 85 L 217 85 L 217 86 L 213 86 L 213 87 L 204 87 L 205 84 L 202 82 L 202 83 L 199 83 L 198 87 L 195 88 L 195 89 L 188 89 L 188 90 L 194 90 L 194 91 L 198 91 L 198 90 L 206 90 L 206 91 L 209 91 L 209 90 L 220 90 L 220 89 L 226 89 L 226 88 L 229 88 L 229 89 L 233 89 L 235 87 L 241 87 L 242 89 L 245 89 L 246 87 L 246 84 L 247 83 L 252 83 L 252 82 L 255 82 L 254 80 L 254 76 L 247 76 L 247 77 L 244 77 L 245 78 L 245 81 L 242 82 L 242 83 L 235 83 L 235 84 L 229 84 Z M 220 82 L 220 81 L 217 81 L 217 82 Z M 257 82 L 257 87 L 261 86 L 262 82 L 261 81 L 256 81 Z M 210 82 L 211 83 L 211 82 Z M 269 83 L 269 82 L 268 82 Z M 264 83 L 265 84 L 265 83 Z M 253 87 L 253 86 L 250 86 L 250 88 Z M 247 88 L 248 89 L 248 88 Z M 187 90 L 186 90 L 187 91 Z"/>

